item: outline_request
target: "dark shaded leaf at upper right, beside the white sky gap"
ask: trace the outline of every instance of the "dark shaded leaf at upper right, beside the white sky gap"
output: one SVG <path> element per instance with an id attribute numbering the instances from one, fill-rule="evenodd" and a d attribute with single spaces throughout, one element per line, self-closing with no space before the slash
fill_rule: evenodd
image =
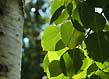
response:
<path id="1" fill-rule="evenodd" d="M 91 28 L 98 32 L 105 27 L 106 20 L 102 14 L 95 13 L 95 7 L 87 2 L 81 3 L 79 6 L 80 19 L 85 28 Z"/>

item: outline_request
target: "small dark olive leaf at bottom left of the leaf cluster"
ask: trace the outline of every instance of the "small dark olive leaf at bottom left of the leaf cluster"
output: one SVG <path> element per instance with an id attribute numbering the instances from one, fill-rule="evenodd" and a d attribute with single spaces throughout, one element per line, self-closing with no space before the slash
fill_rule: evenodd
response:
<path id="1" fill-rule="evenodd" d="M 61 74 L 60 62 L 57 60 L 49 64 L 50 77 L 55 77 Z"/>

